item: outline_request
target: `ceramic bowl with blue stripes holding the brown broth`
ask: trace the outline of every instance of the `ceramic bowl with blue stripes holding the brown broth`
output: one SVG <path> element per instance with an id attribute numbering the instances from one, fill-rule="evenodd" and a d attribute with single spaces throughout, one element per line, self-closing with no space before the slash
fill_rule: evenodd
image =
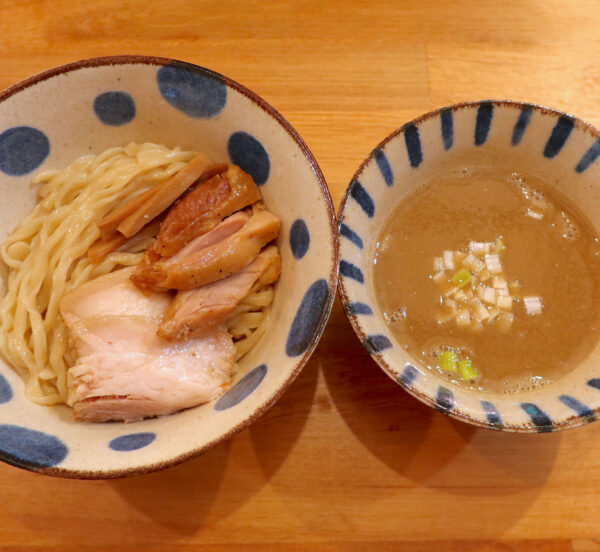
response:
<path id="1" fill-rule="evenodd" d="M 403 197 L 436 174 L 465 165 L 501 165 L 557 183 L 600 229 L 599 157 L 600 132 L 591 125 L 510 101 L 428 113 L 371 152 L 350 182 L 338 215 L 340 295 L 356 334 L 389 377 L 441 412 L 496 430 L 548 432 L 597 418 L 600 345 L 568 374 L 533 391 L 466 389 L 421 367 L 394 338 L 376 302 L 372 267 L 377 238 Z"/>

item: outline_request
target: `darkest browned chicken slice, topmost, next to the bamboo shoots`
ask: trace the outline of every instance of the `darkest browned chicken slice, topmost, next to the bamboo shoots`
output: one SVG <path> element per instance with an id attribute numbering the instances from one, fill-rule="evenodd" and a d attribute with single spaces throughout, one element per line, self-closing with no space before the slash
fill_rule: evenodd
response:
<path id="1" fill-rule="evenodd" d="M 260 192 L 252 177 L 231 165 L 226 172 L 194 188 L 171 208 L 153 250 L 162 257 L 171 257 L 225 217 L 259 199 Z"/>

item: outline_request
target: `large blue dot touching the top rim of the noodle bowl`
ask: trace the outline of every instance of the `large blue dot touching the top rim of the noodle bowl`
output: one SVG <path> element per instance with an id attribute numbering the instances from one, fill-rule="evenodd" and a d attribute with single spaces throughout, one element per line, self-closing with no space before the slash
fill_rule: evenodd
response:
<path id="1" fill-rule="evenodd" d="M 208 119 L 227 103 L 227 86 L 216 74 L 185 63 L 164 65 L 156 80 L 162 97 L 189 117 Z"/>

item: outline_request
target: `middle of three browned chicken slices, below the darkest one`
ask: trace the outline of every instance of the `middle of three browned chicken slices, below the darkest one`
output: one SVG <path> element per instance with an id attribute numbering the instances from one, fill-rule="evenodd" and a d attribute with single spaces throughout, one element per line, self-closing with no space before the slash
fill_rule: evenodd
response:
<path id="1" fill-rule="evenodd" d="M 234 215 L 234 216 L 237 216 Z M 262 208 L 229 236 L 215 242 L 224 220 L 212 232 L 199 236 L 168 259 L 138 266 L 132 281 L 142 289 L 193 289 L 235 274 L 252 262 L 260 250 L 279 234 L 279 219 Z M 222 234 L 219 234 L 222 235 Z"/>

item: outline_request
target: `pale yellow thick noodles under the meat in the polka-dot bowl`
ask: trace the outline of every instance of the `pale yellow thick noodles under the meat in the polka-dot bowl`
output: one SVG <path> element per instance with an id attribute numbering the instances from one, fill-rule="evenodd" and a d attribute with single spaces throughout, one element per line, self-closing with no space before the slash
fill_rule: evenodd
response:
<path id="1" fill-rule="evenodd" d="M 129 144 L 83 156 L 58 171 L 38 174 L 38 201 L 0 246 L 8 268 L 0 301 L 0 352 L 25 380 L 27 397 L 65 404 L 73 364 L 59 304 L 69 290 L 113 270 L 139 263 L 154 239 L 140 232 L 124 250 L 99 264 L 87 257 L 100 237 L 95 222 L 126 198 L 153 188 L 181 170 L 196 152 L 157 144 Z M 254 288 L 227 322 L 236 360 L 262 337 L 272 286 Z"/>

